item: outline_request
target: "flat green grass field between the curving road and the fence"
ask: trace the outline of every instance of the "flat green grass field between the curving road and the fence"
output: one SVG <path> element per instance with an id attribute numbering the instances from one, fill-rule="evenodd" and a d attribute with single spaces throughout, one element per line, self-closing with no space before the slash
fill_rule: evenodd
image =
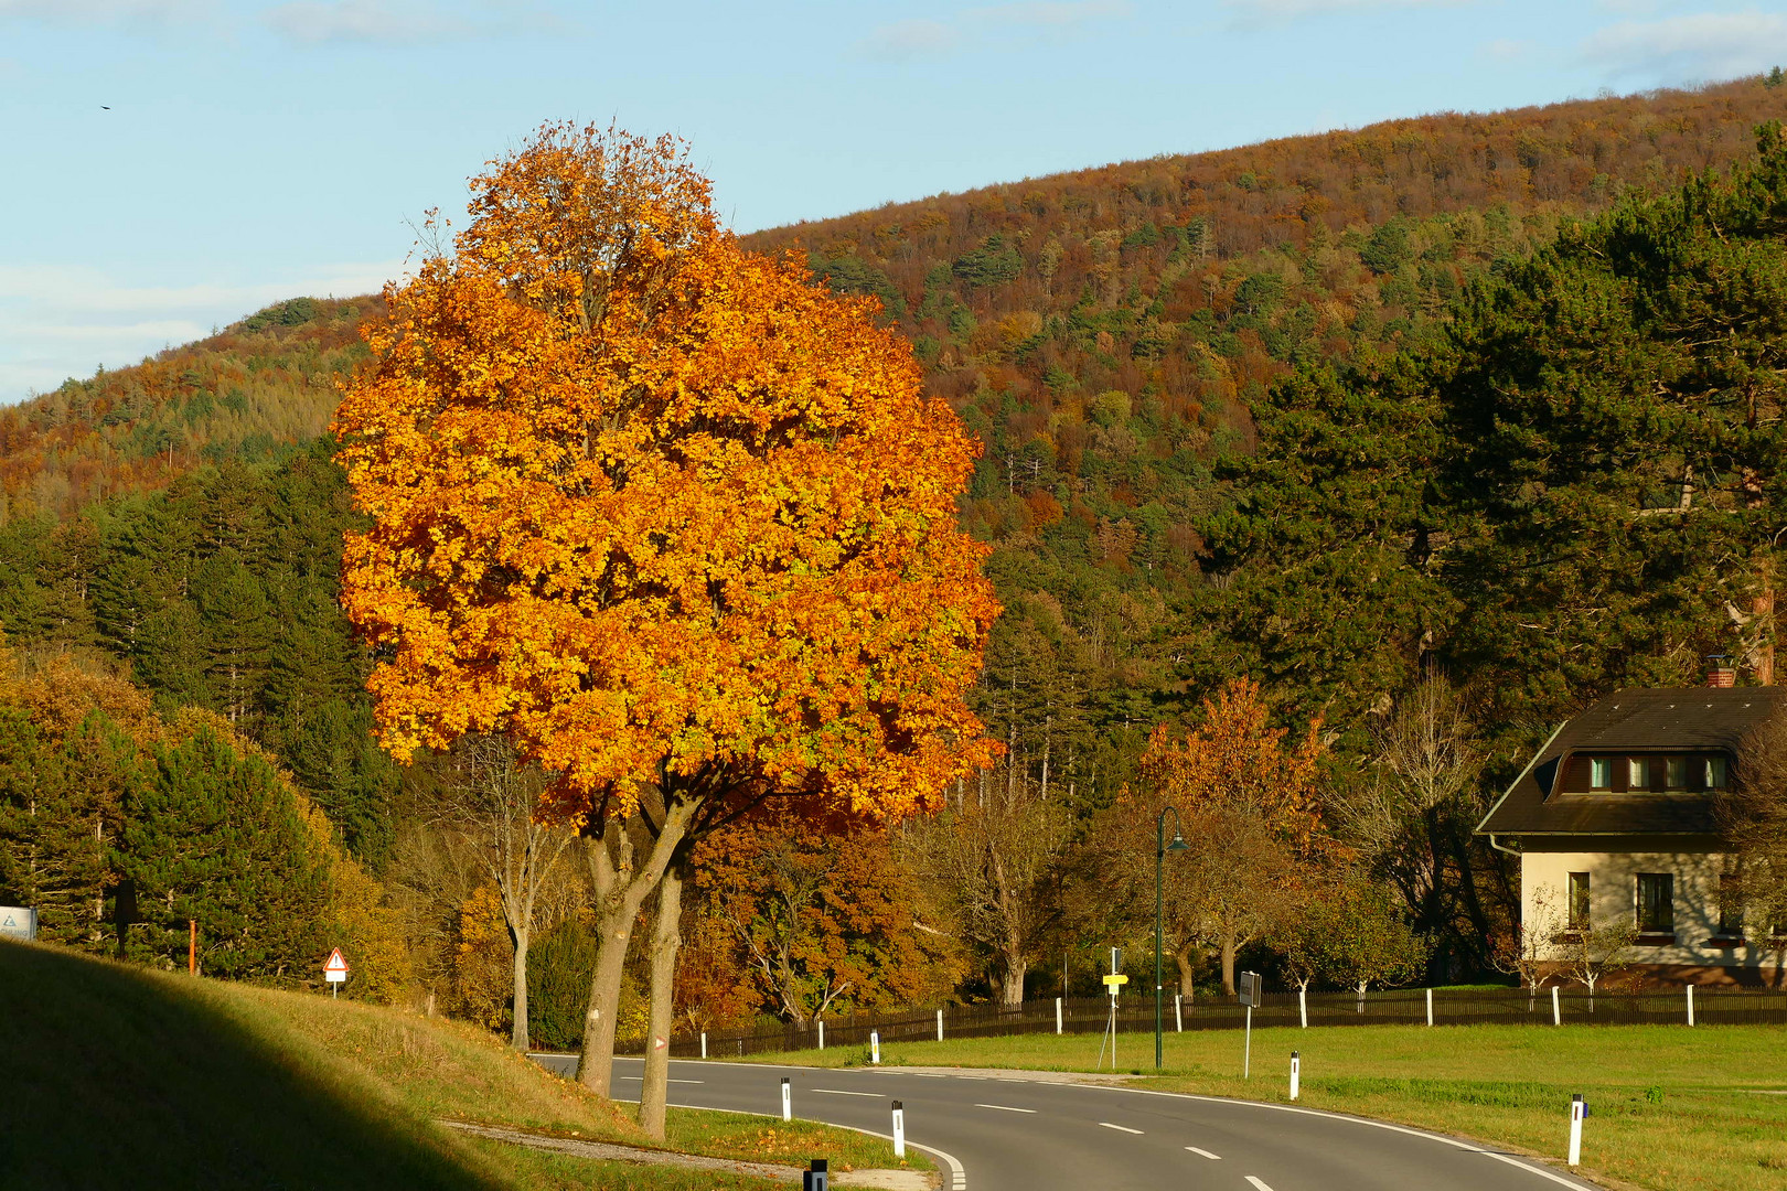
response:
<path id="1" fill-rule="evenodd" d="M 890 1066 L 1092 1071 L 1097 1034 L 886 1043 Z M 1303 1055 L 1312 1109 L 1355 1112 L 1560 1161 L 1571 1093 L 1589 1098 L 1580 1173 L 1646 1191 L 1787 1187 L 1787 1027 L 1331 1027 L 1256 1029 L 1253 1079 L 1240 1030 L 1167 1034 L 1162 1079 L 1137 1086 L 1287 1100 Z M 1151 1034 L 1119 1036 L 1124 1071 L 1151 1073 Z M 861 1048 L 758 1055 L 854 1066 Z M 1106 1061 L 1108 1064 L 1108 1061 Z"/>

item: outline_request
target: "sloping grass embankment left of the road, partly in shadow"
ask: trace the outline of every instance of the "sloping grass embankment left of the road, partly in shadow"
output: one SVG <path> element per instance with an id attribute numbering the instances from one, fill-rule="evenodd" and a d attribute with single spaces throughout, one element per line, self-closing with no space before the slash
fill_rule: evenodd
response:
<path id="1" fill-rule="evenodd" d="M 0 1170 L 30 1187 L 759 1191 L 761 1179 L 597 1162 L 454 1134 L 438 1118 L 650 1145 L 627 1105 L 488 1034 L 302 993 L 0 943 Z M 667 1148 L 835 1170 L 899 1166 L 861 1134 L 670 1111 Z M 922 1159 L 913 1164 L 922 1164 Z"/>

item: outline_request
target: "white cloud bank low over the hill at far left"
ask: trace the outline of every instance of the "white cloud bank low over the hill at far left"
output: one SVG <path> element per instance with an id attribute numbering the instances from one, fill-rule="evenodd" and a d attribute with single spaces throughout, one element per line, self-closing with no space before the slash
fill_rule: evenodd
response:
<path id="1" fill-rule="evenodd" d="M 132 286 L 91 268 L 0 266 L 0 404 L 134 364 L 282 298 L 373 293 L 402 271 L 340 264 L 250 284 Z"/>

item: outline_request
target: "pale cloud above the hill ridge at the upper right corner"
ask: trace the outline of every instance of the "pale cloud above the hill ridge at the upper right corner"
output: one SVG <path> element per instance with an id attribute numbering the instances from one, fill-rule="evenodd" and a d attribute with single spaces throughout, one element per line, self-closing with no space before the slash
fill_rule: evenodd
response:
<path id="1" fill-rule="evenodd" d="M 1594 32 L 1581 48 L 1614 79 L 1735 79 L 1787 61 L 1787 16 L 1749 11 L 1621 21 Z"/>

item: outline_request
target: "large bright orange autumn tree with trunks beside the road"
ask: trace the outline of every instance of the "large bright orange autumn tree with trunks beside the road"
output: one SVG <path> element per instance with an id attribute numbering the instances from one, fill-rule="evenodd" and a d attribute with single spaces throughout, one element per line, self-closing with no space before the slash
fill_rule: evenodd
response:
<path id="1" fill-rule="evenodd" d="M 872 302 L 720 230 L 679 143 L 547 125 L 472 186 L 336 416 L 343 605 L 393 754 L 502 734 L 590 837 L 606 1095 L 627 934 L 663 886 L 656 977 L 693 839 L 776 795 L 901 816 L 985 759 L 977 448 Z"/>

